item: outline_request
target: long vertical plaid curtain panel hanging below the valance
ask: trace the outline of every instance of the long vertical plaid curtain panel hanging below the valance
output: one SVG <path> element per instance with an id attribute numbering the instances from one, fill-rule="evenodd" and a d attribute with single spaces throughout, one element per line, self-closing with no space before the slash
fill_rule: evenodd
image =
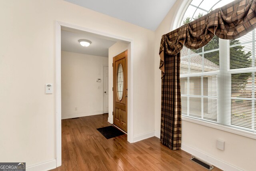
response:
<path id="1" fill-rule="evenodd" d="M 181 147 L 180 53 L 165 55 L 162 78 L 161 141 L 172 150 Z"/>

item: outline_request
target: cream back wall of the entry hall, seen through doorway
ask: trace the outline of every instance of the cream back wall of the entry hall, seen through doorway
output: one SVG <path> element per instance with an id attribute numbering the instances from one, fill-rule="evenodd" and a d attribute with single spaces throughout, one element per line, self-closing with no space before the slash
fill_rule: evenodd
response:
<path id="1" fill-rule="evenodd" d="M 104 113 L 103 81 L 96 82 L 103 79 L 103 65 L 108 58 L 61 52 L 62 119 Z"/>

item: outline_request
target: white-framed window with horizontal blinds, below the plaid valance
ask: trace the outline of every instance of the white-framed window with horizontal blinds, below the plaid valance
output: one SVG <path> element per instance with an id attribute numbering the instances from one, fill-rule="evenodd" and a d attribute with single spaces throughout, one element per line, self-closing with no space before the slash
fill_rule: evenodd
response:
<path id="1" fill-rule="evenodd" d="M 181 51 L 182 115 L 256 132 L 255 30 Z"/>

